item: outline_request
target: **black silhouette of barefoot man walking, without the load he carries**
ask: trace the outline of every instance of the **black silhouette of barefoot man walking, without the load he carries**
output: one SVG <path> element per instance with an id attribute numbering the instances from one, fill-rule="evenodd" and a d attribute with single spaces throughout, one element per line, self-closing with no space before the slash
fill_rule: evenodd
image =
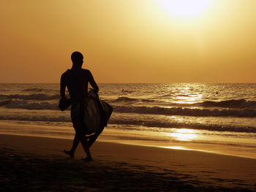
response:
<path id="1" fill-rule="evenodd" d="M 83 150 L 86 152 L 86 161 L 91 161 L 91 153 L 89 146 L 97 139 L 102 130 L 95 134 L 89 141 L 83 128 L 83 123 L 80 118 L 80 102 L 88 96 L 88 83 L 94 88 L 94 92 L 98 93 L 99 88 L 94 81 L 94 77 L 87 69 L 82 69 L 83 55 L 80 52 L 75 51 L 71 55 L 72 68 L 67 70 L 61 75 L 61 98 L 64 99 L 66 87 L 69 91 L 70 103 L 71 103 L 71 119 L 73 127 L 75 128 L 75 137 L 71 150 L 64 150 L 64 153 L 74 158 L 75 149 L 78 147 L 79 142 L 83 146 Z"/>

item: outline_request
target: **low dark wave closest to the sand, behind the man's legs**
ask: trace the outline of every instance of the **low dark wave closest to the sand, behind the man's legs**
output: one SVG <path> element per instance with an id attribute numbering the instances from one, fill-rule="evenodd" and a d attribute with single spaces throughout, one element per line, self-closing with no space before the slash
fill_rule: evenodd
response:
<path id="1" fill-rule="evenodd" d="M 0 115 L 0 120 L 24 120 L 24 121 L 42 121 L 42 122 L 71 122 L 69 113 L 66 115 Z M 233 131 L 244 133 L 256 133 L 256 127 L 236 126 L 234 125 L 217 125 L 208 123 L 181 123 L 181 122 L 168 122 L 159 120 L 135 120 L 135 119 L 117 119 L 110 118 L 109 125 L 126 125 L 125 129 L 144 130 L 147 127 L 148 131 L 162 131 L 169 132 L 169 128 L 193 128 L 208 131 Z M 112 127 L 112 126 L 111 126 Z M 156 129 L 157 128 L 157 129 Z"/>

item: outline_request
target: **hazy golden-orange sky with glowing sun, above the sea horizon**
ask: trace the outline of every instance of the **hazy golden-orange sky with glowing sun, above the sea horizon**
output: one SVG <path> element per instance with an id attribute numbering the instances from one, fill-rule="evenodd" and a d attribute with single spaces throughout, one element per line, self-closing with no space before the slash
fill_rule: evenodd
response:
<path id="1" fill-rule="evenodd" d="M 256 1 L 177 1 L 2 0 L 0 82 L 256 82 Z"/>

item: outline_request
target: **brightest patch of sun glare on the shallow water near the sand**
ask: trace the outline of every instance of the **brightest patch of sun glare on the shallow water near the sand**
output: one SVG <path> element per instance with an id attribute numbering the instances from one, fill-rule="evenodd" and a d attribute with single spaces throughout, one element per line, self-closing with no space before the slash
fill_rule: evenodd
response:
<path id="1" fill-rule="evenodd" d="M 195 131 L 188 128 L 175 129 L 175 132 L 170 133 L 169 136 L 180 141 L 190 141 L 197 138 Z"/>

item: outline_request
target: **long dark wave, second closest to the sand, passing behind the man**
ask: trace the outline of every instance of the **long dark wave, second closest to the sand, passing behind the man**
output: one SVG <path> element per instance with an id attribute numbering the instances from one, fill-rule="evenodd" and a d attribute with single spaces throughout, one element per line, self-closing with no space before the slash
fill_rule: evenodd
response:
<path id="1" fill-rule="evenodd" d="M 1 107 L 26 110 L 59 110 L 58 101 L 27 101 L 20 99 L 9 99 L 0 101 Z M 113 106 L 114 112 L 119 113 L 138 113 L 150 115 L 183 115 L 195 117 L 239 117 L 255 118 L 255 109 L 198 109 L 188 107 L 146 107 L 146 106 Z"/>

